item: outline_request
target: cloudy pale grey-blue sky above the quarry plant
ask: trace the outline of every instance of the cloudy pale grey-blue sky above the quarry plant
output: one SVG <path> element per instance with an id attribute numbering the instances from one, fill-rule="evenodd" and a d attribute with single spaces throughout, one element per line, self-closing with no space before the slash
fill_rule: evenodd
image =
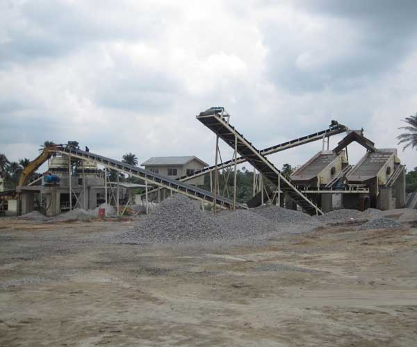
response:
<path id="1" fill-rule="evenodd" d="M 0 153 L 76 140 L 116 159 L 213 163 L 215 137 L 195 119 L 212 105 L 259 149 L 332 119 L 395 148 L 417 112 L 416 13 L 415 0 L 1 0 Z M 398 153 L 417 167 L 416 151 Z M 351 146 L 351 161 L 363 154 Z"/>

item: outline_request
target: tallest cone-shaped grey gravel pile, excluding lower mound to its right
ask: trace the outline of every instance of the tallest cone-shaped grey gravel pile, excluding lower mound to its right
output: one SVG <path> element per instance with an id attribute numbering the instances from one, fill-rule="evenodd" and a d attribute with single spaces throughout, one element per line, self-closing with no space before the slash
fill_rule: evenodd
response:
<path id="1" fill-rule="evenodd" d="M 208 213 L 186 196 L 167 198 L 122 235 L 122 242 L 183 242 L 220 237 L 222 229 Z"/>

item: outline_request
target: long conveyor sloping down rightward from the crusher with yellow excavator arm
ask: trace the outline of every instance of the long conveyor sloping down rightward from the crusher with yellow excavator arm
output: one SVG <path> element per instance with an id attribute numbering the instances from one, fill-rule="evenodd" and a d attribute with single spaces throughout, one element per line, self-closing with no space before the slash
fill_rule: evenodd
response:
<path id="1" fill-rule="evenodd" d="M 213 194 L 206 191 L 205 189 L 201 189 L 193 185 L 188 185 L 172 178 L 154 174 L 153 172 L 141 169 L 140 167 L 134 167 L 133 165 L 129 165 L 118 160 L 113 160 L 95 153 L 85 152 L 81 151 L 80 149 L 74 149 L 67 146 L 54 146 L 54 149 L 51 149 L 51 151 L 64 155 L 71 155 L 72 157 L 79 158 L 81 160 L 90 160 L 92 162 L 96 162 L 97 164 L 104 165 L 110 169 L 123 172 L 124 174 L 142 178 L 151 184 L 158 185 L 158 187 L 167 188 L 174 192 L 184 194 L 190 198 L 195 198 L 200 201 L 214 203 Z M 227 198 L 223 198 L 222 196 L 217 196 L 215 203 L 220 205 L 222 208 L 233 208 L 233 201 Z M 237 204 L 237 206 L 238 208 L 247 208 L 247 206 L 243 204 Z"/>

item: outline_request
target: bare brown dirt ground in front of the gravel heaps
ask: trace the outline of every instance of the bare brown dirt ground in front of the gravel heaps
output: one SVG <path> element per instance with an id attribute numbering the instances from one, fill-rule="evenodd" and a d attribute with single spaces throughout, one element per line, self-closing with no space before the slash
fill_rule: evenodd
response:
<path id="1" fill-rule="evenodd" d="M 264 246 L 111 242 L 0 219 L 0 346 L 417 346 L 417 229 Z"/>

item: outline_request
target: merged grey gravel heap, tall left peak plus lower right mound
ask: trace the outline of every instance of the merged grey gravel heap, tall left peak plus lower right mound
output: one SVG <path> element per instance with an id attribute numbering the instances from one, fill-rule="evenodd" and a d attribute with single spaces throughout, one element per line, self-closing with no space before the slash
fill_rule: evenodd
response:
<path id="1" fill-rule="evenodd" d="M 252 242 L 281 233 L 309 232 L 321 225 L 308 214 L 277 206 L 203 212 L 200 204 L 174 194 L 140 219 L 120 242 L 127 244 L 224 241 Z"/>

